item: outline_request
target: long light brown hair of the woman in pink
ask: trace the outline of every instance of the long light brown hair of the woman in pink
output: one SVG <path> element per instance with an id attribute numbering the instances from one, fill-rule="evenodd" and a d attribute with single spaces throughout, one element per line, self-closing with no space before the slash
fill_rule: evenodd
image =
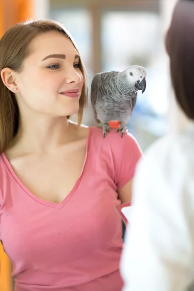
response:
<path id="1" fill-rule="evenodd" d="M 24 59 L 31 53 L 30 42 L 40 33 L 56 31 L 63 33 L 79 50 L 70 33 L 59 23 L 50 20 L 26 21 L 10 28 L 0 39 L 0 72 L 9 67 L 16 72 L 22 70 Z M 81 124 L 83 110 L 87 100 L 87 79 L 82 61 L 80 61 L 84 84 L 80 97 L 78 124 Z M 15 98 L 0 78 L 0 152 L 5 151 L 18 129 L 19 110 Z M 70 116 L 68 116 L 69 118 Z"/>

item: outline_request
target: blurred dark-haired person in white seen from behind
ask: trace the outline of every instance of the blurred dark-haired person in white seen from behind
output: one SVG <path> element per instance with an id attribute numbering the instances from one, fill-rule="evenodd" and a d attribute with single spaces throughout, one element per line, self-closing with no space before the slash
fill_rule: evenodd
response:
<path id="1" fill-rule="evenodd" d="M 150 146 L 138 164 L 121 263 L 123 291 L 194 290 L 194 1 L 176 4 L 166 50 L 189 126 Z"/>

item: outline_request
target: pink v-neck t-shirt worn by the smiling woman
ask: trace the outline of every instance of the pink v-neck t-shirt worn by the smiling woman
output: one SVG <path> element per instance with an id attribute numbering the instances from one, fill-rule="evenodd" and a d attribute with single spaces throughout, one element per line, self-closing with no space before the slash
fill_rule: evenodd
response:
<path id="1" fill-rule="evenodd" d="M 133 178 L 141 155 L 129 133 L 121 138 L 112 129 L 103 138 L 90 127 L 80 177 L 60 204 L 34 196 L 0 155 L 0 240 L 15 291 L 122 289 L 117 190 Z"/>

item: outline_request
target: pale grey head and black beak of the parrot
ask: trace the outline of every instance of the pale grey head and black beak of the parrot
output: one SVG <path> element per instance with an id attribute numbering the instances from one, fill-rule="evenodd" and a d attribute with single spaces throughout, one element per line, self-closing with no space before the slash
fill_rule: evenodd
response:
<path id="1" fill-rule="evenodd" d="M 130 87 L 141 90 L 142 94 L 146 90 L 147 71 L 144 67 L 139 65 L 131 65 L 125 69 L 125 74 Z"/>

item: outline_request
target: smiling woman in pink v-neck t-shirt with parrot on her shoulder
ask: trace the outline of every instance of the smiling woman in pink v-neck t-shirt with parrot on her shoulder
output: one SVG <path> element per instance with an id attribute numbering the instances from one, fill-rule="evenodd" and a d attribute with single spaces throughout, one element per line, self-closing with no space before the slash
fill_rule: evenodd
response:
<path id="1" fill-rule="evenodd" d="M 85 68 L 57 22 L 8 30 L 0 72 L 0 241 L 15 291 L 120 291 L 115 207 L 130 201 L 140 147 L 81 125 Z"/>

